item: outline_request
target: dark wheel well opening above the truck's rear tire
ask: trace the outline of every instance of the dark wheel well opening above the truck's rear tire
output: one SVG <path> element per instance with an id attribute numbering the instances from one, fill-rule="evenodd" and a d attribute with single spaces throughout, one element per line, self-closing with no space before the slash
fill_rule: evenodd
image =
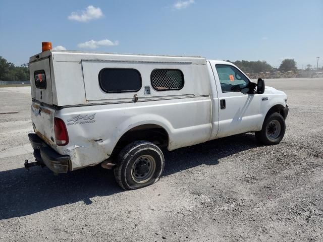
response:
<path id="1" fill-rule="evenodd" d="M 169 144 L 169 136 L 167 131 L 159 126 L 153 124 L 140 125 L 128 130 L 118 141 L 115 146 L 112 156 L 119 154 L 128 144 L 138 141 L 149 141 L 159 148 L 167 148 Z"/>

